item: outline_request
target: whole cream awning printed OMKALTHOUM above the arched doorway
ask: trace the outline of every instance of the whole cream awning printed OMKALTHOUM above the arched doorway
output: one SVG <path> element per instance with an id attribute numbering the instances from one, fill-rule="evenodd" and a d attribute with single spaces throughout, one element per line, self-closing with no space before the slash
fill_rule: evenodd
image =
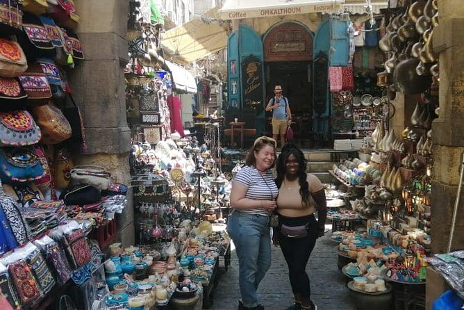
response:
<path id="1" fill-rule="evenodd" d="M 272 17 L 338 10 L 345 0 L 226 0 L 219 14 L 224 19 Z"/>

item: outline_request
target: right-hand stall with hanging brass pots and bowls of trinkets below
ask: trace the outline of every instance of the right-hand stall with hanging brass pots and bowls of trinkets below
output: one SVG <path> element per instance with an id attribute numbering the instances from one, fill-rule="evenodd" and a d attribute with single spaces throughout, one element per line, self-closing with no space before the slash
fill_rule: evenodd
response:
<path id="1" fill-rule="evenodd" d="M 348 288 L 357 309 L 424 309 L 426 266 L 429 261 L 436 266 L 446 263 L 446 257 L 427 258 L 431 251 L 431 121 L 437 117 L 438 58 L 424 42 L 431 40 L 427 33 L 436 25 L 437 10 L 433 1 L 398 7 L 388 16 L 386 35 L 379 42 L 390 59 L 384 64 L 385 71 L 377 75 L 377 85 L 383 87 L 378 106 L 394 100 L 396 92 L 417 94 L 415 108 L 406 113 L 411 115 L 407 127 L 397 135 L 395 129 L 388 130 L 388 117 L 373 119 L 374 129 L 360 152 L 364 161 L 354 158 L 331 171 L 346 188 L 354 188 L 354 195 L 348 195 L 349 211 L 333 216 L 347 219 L 354 216 L 349 213 L 357 212 L 365 219 L 358 226 L 335 226 L 332 235 L 339 244 L 339 268 L 351 278 Z M 406 72 L 411 74 L 406 77 Z M 365 95 L 359 99 L 363 106 Z M 373 101 L 365 106 L 374 106 Z M 347 193 L 331 195 L 345 197 Z M 456 252 L 451 261 L 458 256 Z"/>

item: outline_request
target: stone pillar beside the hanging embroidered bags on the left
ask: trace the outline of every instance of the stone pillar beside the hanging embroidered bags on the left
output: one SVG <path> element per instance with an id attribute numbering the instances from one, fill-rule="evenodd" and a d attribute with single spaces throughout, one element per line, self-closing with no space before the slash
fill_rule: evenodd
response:
<path id="1" fill-rule="evenodd" d="M 69 73 L 69 85 L 83 113 L 88 142 L 88 154 L 76 154 L 75 162 L 101 165 L 111 172 L 113 181 L 130 185 L 131 131 L 126 122 L 124 84 L 124 67 L 129 61 L 129 1 L 75 2 L 81 17 L 76 32 L 85 60 Z M 124 245 L 134 242 L 133 204 L 132 199 L 128 201 L 124 213 L 117 216 L 118 236 L 124 236 Z"/>

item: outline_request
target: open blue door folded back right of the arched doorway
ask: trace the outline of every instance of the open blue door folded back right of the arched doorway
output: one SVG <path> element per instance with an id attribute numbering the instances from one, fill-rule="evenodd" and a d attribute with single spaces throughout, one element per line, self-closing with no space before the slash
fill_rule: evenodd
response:
<path id="1" fill-rule="evenodd" d="M 313 115 L 314 131 L 330 135 L 331 97 L 329 66 L 349 63 L 348 22 L 330 17 L 320 24 L 314 38 L 313 58 Z"/>

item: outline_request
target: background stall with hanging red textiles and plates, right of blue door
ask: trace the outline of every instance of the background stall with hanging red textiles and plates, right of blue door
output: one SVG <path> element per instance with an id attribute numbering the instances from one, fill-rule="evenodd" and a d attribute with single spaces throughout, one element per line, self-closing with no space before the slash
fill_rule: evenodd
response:
<path id="1" fill-rule="evenodd" d="M 383 67 L 378 47 L 382 15 L 352 15 L 348 27 L 350 61 L 329 67 L 331 127 L 335 149 L 360 149 L 376 123 L 388 125 L 389 100 L 376 85 L 376 74 Z"/>

